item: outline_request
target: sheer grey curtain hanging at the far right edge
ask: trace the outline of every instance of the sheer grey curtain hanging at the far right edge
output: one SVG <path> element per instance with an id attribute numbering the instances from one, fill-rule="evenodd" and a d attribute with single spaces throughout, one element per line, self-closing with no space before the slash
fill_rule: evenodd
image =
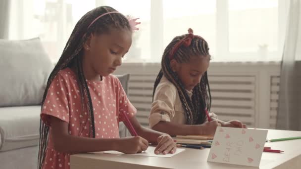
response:
<path id="1" fill-rule="evenodd" d="M 291 0 L 282 58 L 277 128 L 301 130 L 301 1 Z"/>

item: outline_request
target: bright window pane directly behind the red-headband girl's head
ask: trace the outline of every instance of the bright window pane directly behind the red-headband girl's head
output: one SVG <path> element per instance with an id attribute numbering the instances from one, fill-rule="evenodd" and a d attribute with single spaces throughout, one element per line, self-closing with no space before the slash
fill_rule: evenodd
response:
<path id="1" fill-rule="evenodd" d="M 183 3 L 185 2 L 185 3 Z M 175 36 L 187 34 L 188 28 L 200 35 L 214 55 L 215 46 L 215 0 L 163 0 L 163 45 Z"/>

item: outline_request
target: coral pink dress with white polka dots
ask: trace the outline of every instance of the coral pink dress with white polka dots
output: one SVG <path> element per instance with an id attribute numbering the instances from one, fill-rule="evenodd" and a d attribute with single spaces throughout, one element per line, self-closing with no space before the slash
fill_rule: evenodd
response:
<path id="1" fill-rule="evenodd" d="M 118 78 L 109 75 L 102 81 L 88 81 L 91 94 L 96 138 L 119 138 L 119 122 L 133 117 L 137 110 L 128 100 Z M 57 152 L 53 148 L 51 118 L 56 117 L 69 124 L 69 134 L 92 137 L 91 119 L 87 108 L 82 110 L 80 90 L 75 73 L 66 68 L 57 73 L 50 84 L 45 103 L 42 105 L 41 118 L 50 126 L 49 140 L 42 169 L 70 169 L 70 154 Z"/>

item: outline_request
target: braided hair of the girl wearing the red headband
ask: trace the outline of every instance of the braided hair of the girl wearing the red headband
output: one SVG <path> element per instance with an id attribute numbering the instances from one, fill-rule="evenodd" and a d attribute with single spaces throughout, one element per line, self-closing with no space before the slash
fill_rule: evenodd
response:
<path id="1" fill-rule="evenodd" d="M 181 43 L 187 39 L 189 39 L 188 44 Z M 194 36 L 190 33 L 175 37 L 164 50 L 161 69 L 153 86 L 152 101 L 156 87 L 163 75 L 176 86 L 187 119 L 186 124 L 189 125 L 204 123 L 206 118 L 205 109 L 210 110 L 211 94 L 207 72 L 202 76 L 200 83 L 193 88 L 193 95 L 190 98 L 178 75 L 172 71 L 170 61 L 175 59 L 178 63 L 188 63 L 192 56 L 205 57 L 207 55 L 209 55 L 208 44 L 200 36 Z"/>

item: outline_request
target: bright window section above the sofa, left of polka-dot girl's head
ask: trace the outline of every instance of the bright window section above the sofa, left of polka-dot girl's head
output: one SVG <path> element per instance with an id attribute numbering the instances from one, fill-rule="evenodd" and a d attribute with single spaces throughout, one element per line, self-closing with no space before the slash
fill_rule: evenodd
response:
<path id="1" fill-rule="evenodd" d="M 55 62 L 76 22 L 93 8 L 91 0 L 11 0 L 9 39 L 40 37 Z"/>

